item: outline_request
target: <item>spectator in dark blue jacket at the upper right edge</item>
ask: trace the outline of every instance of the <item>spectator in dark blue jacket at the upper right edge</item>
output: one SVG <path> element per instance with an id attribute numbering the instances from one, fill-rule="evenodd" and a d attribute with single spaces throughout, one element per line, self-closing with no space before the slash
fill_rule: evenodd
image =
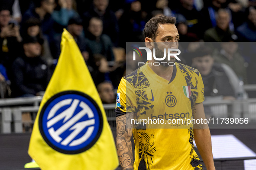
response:
<path id="1" fill-rule="evenodd" d="M 250 6 L 246 9 L 246 22 L 237 28 L 237 36 L 239 41 L 256 41 L 256 9 Z"/>

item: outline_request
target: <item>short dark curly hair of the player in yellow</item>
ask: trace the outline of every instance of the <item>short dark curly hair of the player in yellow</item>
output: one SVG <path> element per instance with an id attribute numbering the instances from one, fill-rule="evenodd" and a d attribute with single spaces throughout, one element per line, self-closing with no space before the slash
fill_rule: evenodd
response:
<path id="1" fill-rule="evenodd" d="M 161 24 L 175 24 L 176 18 L 169 16 L 155 16 L 151 18 L 145 25 L 143 30 L 144 38 L 152 38 L 153 40 L 156 38 L 156 31 Z"/>

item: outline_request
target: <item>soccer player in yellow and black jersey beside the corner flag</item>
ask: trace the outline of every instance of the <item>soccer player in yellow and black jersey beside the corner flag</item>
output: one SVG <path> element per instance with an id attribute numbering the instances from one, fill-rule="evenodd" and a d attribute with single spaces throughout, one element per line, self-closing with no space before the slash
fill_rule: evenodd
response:
<path id="1" fill-rule="evenodd" d="M 162 58 L 167 46 L 178 48 L 179 35 L 175 17 L 156 16 L 144 28 L 145 44 Z M 167 57 L 166 57 L 167 58 Z M 166 60 L 164 60 L 166 61 Z M 205 119 L 204 85 L 197 69 L 175 63 L 147 64 L 122 78 L 117 91 L 117 154 L 123 170 L 202 170 L 193 141 L 207 170 L 215 170 L 211 134 L 208 126 L 175 123 L 176 120 Z M 171 56 L 169 62 L 175 62 Z M 131 119 L 169 120 L 156 128 L 149 124 L 131 124 Z M 169 128 L 166 128 L 169 126 Z M 178 127 L 180 126 L 180 127 Z M 151 127 L 151 129 L 149 128 Z M 153 127 L 153 128 L 152 128 Z M 165 128 L 161 128 L 165 127 Z M 133 134 L 135 151 L 131 137 Z"/>

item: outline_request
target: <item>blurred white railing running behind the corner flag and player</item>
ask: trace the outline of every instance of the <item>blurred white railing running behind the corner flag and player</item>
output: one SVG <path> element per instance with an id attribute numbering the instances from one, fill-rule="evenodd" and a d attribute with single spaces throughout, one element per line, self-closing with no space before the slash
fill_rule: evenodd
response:
<path id="1" fill-rule="evenodd" d="M 33 113 L 32 120 L 35 120 L 41 100 L 42 97 L 0 99 L 0 132 L 23 132 L 22 114 L 24 112 Z M 115 104 L 104 104 L 103 106 L 108 122 L 111 126 L 115 126 Z M 204 101 L 204 107 L 206 114 L 211 114 L 210 116 L 247 117 L 250 121 L 256 121 L 256 98 L 235 101 Z M 210 113 L 207 113 L 206 107 L 210 108 Z"/>

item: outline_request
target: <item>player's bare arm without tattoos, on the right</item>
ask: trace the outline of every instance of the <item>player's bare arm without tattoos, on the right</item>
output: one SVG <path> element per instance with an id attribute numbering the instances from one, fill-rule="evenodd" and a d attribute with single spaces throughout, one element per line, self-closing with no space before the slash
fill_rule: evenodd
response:
<path id="1" fill-rule="evenodd" d="M 192 108 L 194 119 L 205 119 L 203 103 L 195 104 Z M 197 125 L 198 126 L 198 125 Z M 194 129 L 194 141 L 198 151 L 203 158 L 207 170 L 215 170 L 212 148 L 211 148 L 211 133 L 208 125 L 201 124 L 198 129 Z"/>

